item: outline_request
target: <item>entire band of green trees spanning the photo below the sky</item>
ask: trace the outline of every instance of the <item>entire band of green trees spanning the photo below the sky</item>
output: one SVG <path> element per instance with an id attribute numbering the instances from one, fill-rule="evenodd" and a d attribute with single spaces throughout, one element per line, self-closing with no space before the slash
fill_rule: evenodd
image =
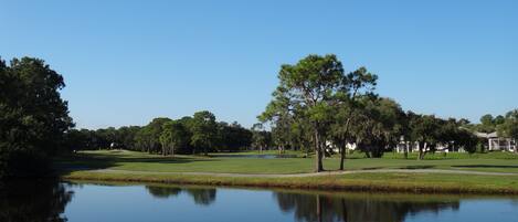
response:
<path id="1" fill-rule="evenodd" d="M 518 139 L 518 109 L 485 115 L 482 124 L 405 112 L 376 93 L 378 76 L 366 67 L 346 72 L 332 54 L 308 55 L 282 65 L 272 102 L 260 123 L 245 128 L 202 110 L 180 119 L 159 117 L 146 126 L 76 129 L 60 91 L 63 76 L 42 60 L 0 60 L 0 178 L 49 171 L 52 157 L 82 149 L 128 149 L 165 156 L 247 149 L 300 150 L 315 156 L 315 170 L 330 147 L 348 144 L 378 158 L 402 140 L 419 144 L 422 159 L 438 145 L 485 151 L 474 131 Z"/>

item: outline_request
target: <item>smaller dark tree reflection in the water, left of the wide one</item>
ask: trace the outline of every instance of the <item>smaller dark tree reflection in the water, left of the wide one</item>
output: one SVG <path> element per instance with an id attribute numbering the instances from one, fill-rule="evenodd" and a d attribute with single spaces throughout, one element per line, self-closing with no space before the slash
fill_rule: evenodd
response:
<path id="1" fill-rule="evenodd" d="M 189 194 L 195 204 L 210 205 L 215 201 L 215 188 L 177 188 L 177 187 L 152 187 L 146 186 L 148 192 L 155 198 L 172 198 L 181 192 Z"/>

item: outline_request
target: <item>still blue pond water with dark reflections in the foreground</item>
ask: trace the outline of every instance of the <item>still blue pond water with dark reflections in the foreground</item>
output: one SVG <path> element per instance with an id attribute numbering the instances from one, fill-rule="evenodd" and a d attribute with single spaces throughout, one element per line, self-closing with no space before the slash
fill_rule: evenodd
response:
<path id="1" fill-rule="evenodd" d="M 0 188 L 0 221 L 517 222 L 518 198 L 31 181 Z"/>

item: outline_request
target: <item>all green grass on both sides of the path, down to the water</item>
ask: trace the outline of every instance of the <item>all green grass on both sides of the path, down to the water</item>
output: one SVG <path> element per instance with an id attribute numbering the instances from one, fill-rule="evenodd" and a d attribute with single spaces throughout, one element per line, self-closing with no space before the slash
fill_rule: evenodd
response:
<path id="1" fill-rule="evenodd" d="M 336 169 L 338 159 L 325 160 Z M 518 176 L 478 176 L 414 172 L 361 172 L 302 178 L 192 176 L 175 172 L 223 172 L 282 175 L 311 172 L 310 158 L 257 159 L 240 157 L 161 157 L 131 151 L 89 151 L 60 158 L 55 168 L 64 179 L 160 182 L 178 184 L 240 186 L 316 190 L 401 191 L 426 193 L 512 193 L 518 194 Z M 348 159 L 347 170 L 364 169 L 457 169 L 518 173 L 510 159 Z M 91 170 L 91 169 L 108 169 Z M 109 171 L 115 170 L 115 171 Z M 125 170 L 125 171 L 116 171 Z"/>

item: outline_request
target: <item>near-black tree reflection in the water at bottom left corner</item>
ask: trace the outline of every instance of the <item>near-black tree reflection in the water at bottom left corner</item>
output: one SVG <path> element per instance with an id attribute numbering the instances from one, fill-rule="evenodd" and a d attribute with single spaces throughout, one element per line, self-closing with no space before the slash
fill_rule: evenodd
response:
<path id="1" fill-rule="evenodd" d="M 0 221 L 64 222 L 73 192 L 57 180 L 9 181 L 0 184 Z"/>

